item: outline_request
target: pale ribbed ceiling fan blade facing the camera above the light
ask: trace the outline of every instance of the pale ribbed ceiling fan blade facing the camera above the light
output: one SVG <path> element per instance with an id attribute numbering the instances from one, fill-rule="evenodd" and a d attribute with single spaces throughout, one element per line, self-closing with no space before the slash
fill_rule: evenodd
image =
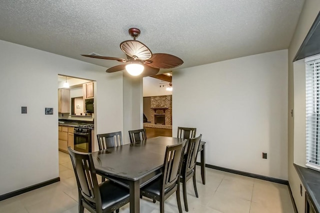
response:
<path id="1" fill-rule="evenodd" d="M 137 40 L 126 40 L 120 43 L 121 50 L 131 58 L 137 57 L 139 60 L 151 58 L 151 50 L 143 43 Z"/>

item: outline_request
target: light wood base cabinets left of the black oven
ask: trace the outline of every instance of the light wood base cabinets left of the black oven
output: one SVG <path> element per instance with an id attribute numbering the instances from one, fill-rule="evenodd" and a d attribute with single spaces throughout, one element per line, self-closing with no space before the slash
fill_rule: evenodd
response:
<path id="1" fill-rule="evenodd" d="M 58 147 L 59 151 L 68 153 L 68 147 L 74 149 L 74 127 L 60 126 L 58 127 Z"/>

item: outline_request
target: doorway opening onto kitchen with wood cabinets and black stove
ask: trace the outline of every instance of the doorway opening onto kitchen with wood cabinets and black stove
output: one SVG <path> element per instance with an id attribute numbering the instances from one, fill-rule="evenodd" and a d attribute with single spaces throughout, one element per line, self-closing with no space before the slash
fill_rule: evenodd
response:
<path id="1" fill-rule="evenodd" d="M 70 164 L 68 147 L 81 152 L 94 150 L 93 104 L 96 82 L 65 75 L 58 75 L 57 80 L 59 177 L 68 178 L 65 176 L 73 174 L 73 171 L 69 171 L 73 168 Z"/>

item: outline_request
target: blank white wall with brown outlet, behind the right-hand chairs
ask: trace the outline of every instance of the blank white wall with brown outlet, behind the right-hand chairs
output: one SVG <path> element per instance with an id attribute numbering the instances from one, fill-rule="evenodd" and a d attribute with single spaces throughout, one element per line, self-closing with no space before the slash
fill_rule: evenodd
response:
<path id="1" fill-rule="evenodd" d="M 207 164 L 287 180 L 287 50 L 173 71 L 172 84 L 172 132 L 196 127 Z"/>

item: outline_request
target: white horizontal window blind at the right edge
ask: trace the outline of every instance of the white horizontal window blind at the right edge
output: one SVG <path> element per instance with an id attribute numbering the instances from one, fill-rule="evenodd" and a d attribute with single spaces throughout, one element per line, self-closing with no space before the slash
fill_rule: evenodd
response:
<path id="1" fill-rule="evenodd" d="M 305 59 L 306 166 L 320 171 L 320 56 Z"/>

